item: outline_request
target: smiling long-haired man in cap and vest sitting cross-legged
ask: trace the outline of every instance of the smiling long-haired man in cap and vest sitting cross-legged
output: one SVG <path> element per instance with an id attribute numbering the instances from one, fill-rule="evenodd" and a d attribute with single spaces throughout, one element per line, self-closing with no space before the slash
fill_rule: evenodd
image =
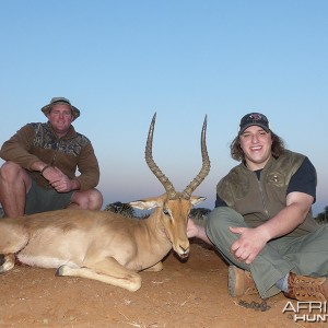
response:
<path id="1" fill-rule="evenodd" d="M 328 226 L 312 216 L 311 161 L 286 150 L 260 113 L 242 118 L 231 155 L 242 163 L 219 181 L 204 226 L 189 220 L 188 236 L 226 259 L 231 296 L 328 301 Z"/>

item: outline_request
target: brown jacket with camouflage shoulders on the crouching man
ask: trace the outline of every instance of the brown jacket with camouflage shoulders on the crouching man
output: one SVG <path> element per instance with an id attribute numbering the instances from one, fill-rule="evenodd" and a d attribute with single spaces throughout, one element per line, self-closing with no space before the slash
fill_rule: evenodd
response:
<path id="1" fill-rule="evenodd" d="M 58 138 L 49 122 L 31 122 L 22 127 L 1 148 L 0 156 L 26 168 L 32 178 L 44 188 L 48 181 L 33 172 L 37 161 L 61 169 L 69 178 L 79 180 L 80 190 L 94 188 L 99 181 L 99 167 L 91 141 L 71 126 L 68 133 Z M 75 176 L 77 169 L 80 175 Z"/>

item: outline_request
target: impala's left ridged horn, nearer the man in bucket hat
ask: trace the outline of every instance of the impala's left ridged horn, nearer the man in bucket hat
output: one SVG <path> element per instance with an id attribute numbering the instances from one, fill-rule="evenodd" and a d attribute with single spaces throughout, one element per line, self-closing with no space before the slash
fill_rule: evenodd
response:
<path id="1" fill-rule="evenodd" d="M 161 184 L 165 188 L 165 191 L 166 191 L 168 198 L 175 199 L 176 191 L 174 189 L 173 184 L 163 174 L 163 172 L 160 169 L 160 167 L 156 165 L 156 163 L 153 160 L 153 134 L 154 134 L 155 121 L 156 121 L 156 113 L 154 114 L 153 119 L 150 125 L 150 128 L 149 128 L 144 159 L 145 159 L 145 162 L 147 162 L 149 168 L 151 169 L 151 172 L 156 176 L 156 178 L 161 181 Z"/>

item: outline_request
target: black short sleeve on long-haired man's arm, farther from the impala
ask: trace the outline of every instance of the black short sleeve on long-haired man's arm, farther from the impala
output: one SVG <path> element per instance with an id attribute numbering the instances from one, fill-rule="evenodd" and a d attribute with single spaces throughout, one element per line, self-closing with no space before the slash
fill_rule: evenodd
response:
<path id="1" fill-rule="evenodd" d="M 300 168 L 291 177 L 286 195 L 293 191 L 304 192 L 316 200 L 317 173 L 311 161 L 305 157 Z"/>

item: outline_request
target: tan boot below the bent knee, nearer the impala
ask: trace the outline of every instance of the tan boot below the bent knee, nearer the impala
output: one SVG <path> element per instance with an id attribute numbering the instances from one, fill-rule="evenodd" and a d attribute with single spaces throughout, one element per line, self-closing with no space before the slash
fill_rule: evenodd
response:
<path id="1" fill-rule="evenodd" d="M 229 267 L 227 285 L 232 297 L 258 294 L 251 273 L 235 266 Z"/>

